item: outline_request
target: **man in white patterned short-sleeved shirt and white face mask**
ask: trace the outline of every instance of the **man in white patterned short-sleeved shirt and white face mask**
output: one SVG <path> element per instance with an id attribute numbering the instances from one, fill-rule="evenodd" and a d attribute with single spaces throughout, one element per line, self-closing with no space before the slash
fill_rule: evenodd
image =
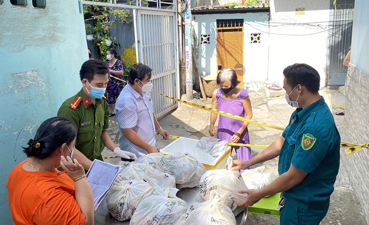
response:
<path id="1" fill-rule="evenodd" d="M 136 154 L 137 157 L 140 152 L 159 152 L 155 132 L 165 140 L 169 137 L 168 132 L 161 129 L 153 111 L 150 97 L 151 71 L 150 67 L 142 63 L 133 65 L 128 76 L 129 84 L 123 88 L 115 106 L 121 129 L 119 147 Z"/>

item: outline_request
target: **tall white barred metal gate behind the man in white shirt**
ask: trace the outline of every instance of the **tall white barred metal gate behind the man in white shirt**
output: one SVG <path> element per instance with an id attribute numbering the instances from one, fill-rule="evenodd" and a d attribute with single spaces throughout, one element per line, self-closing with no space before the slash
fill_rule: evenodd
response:
<path id="1" fill-rule="evenodd" d="M 153 91 L 179 98 L 176 13 L 137 10 L 138 58 L 152 68 Z M 151 94 L 160 117 L 178 106 L 177 101 Z"/>

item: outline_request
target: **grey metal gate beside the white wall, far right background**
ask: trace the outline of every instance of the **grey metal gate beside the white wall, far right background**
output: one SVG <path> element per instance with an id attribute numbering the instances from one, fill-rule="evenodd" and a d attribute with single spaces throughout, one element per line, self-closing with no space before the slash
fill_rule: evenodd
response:
<path id="1" fill-rule="evenodd" d="M 329 85 L 345 83 L 347 67 L 343 59 L 351 49 L 354 0 L 337 0 L 336 10 L 333 6 L 331 19 L 332 31 L 329 37 L 327 73 Z"/>

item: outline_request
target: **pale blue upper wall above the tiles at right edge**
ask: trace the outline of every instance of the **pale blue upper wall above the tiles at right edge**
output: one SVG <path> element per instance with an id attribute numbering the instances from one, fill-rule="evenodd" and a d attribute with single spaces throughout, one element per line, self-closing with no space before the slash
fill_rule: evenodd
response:
<path id="1" fill-rule="evenodd" d="M 369 74 L 369 1 L 355 1 L 355 16 L 353 20 L 351 41 L 351 63 Z"/>

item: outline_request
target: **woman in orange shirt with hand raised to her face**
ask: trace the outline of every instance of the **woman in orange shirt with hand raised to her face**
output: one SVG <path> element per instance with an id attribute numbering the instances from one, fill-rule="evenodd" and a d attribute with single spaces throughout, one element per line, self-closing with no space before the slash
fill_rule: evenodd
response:
<path id="1" fill-rule="evenodd" d="M 77 132 L 67 119 L 54 117 L 28 142 L 23 151 L 29 159 L 13 168 L 7 182 L 14 224 L 94 224 L 91 188 L 83 167 L 71 160 Z"/>

